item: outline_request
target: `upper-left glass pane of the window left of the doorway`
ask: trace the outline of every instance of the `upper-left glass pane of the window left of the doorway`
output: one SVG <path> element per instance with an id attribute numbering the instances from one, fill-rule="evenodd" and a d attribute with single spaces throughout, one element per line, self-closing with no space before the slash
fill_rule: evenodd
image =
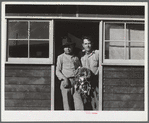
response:
<path id="1" fill-rule="evenodd" d="M 27 22 L 9 22 L 8 38 L 9 39 L 27 39 L 28 23 Z"/>

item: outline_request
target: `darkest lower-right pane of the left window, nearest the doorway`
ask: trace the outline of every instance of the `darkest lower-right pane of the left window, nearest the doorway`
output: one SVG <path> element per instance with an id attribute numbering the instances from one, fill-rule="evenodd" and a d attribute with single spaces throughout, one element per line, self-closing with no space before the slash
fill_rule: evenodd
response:
<path id="1" fill-rule="evenodd" d="M 49 58 L 49 41 L 30 41 L 31 58 Z"/>

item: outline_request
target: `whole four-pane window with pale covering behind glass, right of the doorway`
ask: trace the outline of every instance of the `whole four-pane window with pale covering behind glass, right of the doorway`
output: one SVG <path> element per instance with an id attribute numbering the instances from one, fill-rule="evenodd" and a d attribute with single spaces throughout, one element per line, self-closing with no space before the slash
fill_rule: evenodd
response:
<path id="1" fill-rule="evenodd" d="M 144 62 L 144 24 L 138 22 L 105 22 L 103 61 Z"/>

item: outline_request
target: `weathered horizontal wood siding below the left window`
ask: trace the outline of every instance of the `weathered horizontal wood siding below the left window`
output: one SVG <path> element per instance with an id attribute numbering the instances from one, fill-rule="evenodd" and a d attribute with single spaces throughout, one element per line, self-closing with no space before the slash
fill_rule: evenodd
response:
<path id="1" fill-rule="evenodd" d="M 6 65 L 5 110 L 50 110 L 51 67 Z"/>

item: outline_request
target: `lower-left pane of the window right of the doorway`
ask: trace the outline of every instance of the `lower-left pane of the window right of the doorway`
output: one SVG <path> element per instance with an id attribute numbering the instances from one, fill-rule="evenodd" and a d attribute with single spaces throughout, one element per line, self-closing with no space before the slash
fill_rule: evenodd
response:
<path id="1" fill-rule="evenodd" d="M 105 42 L 105 59 L 124 59 L 124 42 Z"/>

